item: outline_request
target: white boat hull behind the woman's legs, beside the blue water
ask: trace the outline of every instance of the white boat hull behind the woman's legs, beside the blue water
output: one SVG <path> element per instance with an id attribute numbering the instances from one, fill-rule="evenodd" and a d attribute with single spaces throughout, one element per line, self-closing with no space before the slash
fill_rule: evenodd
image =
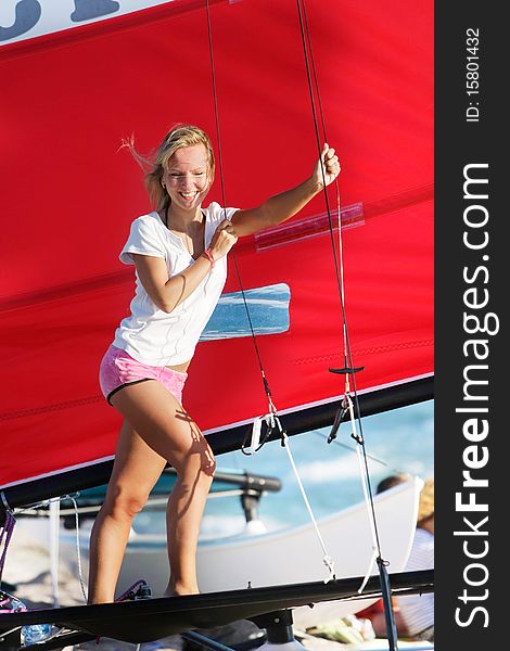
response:
<path id="1" fill-rule="evenodd" d="M 374 510 L 382 558 L 388 572 L 401 572 L 411 549 L 419 495 L 423 483 L 416 477 L 374 496 Z M 336 578 L 378 574 L 372 534 L 364 502 L 339 511 L 318 522 Z M 87 541 L 81 545 L 84 572 L 88 566 Z M 71 532 L 61 537 L 62 554 L 76 558 Z M 315 580 L 327 580 L 328 569 L 311 523 L 262 535 L 238 535 L 205 540 L 199 545 L 197 574 L 203 592 L 232 590 Z M 166 538 L 133 534 L 130 537 L 119 577 L 119 591 L 144 578 L 154 596 L 162 595 L 168 582 Z M 301 628 L 355 613 L 375 601 L 360 600 L 317 604 L 294 611 Z"/>

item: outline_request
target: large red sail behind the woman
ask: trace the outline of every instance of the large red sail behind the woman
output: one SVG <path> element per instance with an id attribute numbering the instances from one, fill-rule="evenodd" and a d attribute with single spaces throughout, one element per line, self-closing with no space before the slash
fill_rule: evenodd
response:
<path id="1" fill-rule="evenodd" d="M 0 486 L 113 455 L 119 417 L 98 366 L 133 292 L 117 255 L 150 209 L 140 169 L 118 148 L 133 132 L 149 152 L 177 122 L 216 139 L 204 4 L 0 47 Z M 357 386 L 371 391 L 433 372 L 433 3 L 315 0 L 307 12 L 343 168 Z M 250 207 L 303 180 L 317 157 L 296 3 L 215 3 L 211 18 L 226 201 Z M 219 176 L 208 199 L 221 202 Z M 334 188 L 329 197 L 335 213 Z M 282 229 L 237 245 L 244 289 L 290 288 L 289 330 L 257 340 L 280 411 L 344 388 L 328 370 L 343 366 L 343 334 L 324 212 L 318 196 Z M 235 292 L 229 264 L 225 291 Z M 204 431 L 267 411 L 250 337 L 199 344 L 184 405 Z"/>

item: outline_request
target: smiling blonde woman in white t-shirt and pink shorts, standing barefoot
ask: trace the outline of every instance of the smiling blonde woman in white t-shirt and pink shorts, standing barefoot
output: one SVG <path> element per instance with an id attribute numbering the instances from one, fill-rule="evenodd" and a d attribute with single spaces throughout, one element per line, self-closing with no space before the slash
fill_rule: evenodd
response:
<path id="1" fill-rule="evenodd" d="M 188 367 L 221 295 L 227 256 L 238 238 L 289 219 L 340 174 L 334 150 L 324 144 L 309 178 L 260 206 L 203 207 L 214 181 L 214 153 L 208 136 L 192 125 L 170 129 L 149 165 L 145 184 L 155 210 L 135 219 L 120 253 L 123 263 L 136 267 L 131 314 L 100 368 L 102 392 L 124 423 L 90 539 L 90 603 L 114 600 L 132 519 L 168 462 L 178 480 L 167 507 L 165 593 L 199 591 L 196 545 L 215 460 L 181 405 Z"/>

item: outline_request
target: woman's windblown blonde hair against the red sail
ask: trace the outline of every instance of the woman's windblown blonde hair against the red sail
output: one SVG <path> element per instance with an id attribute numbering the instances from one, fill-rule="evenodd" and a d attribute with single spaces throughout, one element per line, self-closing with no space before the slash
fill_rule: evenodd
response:
<path id="1" fill-rule="evenodd" d="M 123 148 L 127 148 L 135 161 L 145 173 L 145 188 L 151 199 L 151 204 L 156 210 L 166 208 L 170 197 L 162 186 L 163 174 L 168 169 L 168 161 L 177 150 L 183 146 L 203 144 L 207 154 L 208 187 L 213 184 L 215 173 L 215 159 L 211 139 L 205 131 L 194 125 L 177 124 L 171 127 L 163 139 L 157 150 L 151 156 L 142 156 L 135 149 L 135 138 L 123 140 Z"/>

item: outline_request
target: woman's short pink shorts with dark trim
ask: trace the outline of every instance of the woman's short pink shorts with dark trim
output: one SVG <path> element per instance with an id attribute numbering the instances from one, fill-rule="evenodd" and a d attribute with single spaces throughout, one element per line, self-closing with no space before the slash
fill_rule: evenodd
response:
<path id="1" fill-rule="evenodd" d="M 106 400 L 129 384 L 138 384 L 146 380 L 157 380 L 170 394 L 182 401 L 182 388 L 188 373 L 174 371 L 168 367 L 152 367 L 137 361 L 126 350 L 110 346 L 99 369 L 99 383 Z"/>

